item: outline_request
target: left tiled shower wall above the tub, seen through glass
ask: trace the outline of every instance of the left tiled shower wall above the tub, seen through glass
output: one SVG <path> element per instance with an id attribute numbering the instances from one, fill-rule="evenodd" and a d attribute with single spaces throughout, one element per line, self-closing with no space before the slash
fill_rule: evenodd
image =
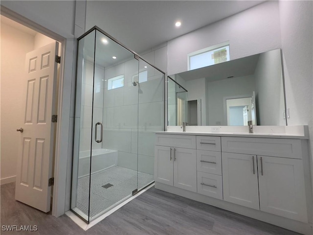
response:
<path id="1" fill-rule="evenodd" d="M 93 126 L 92 133 L 94 135 L 94 123 L 103 120 L 103 94 L 104 94 L 104 68 L 95 66 L 94 73 L 94 89 L 93 89 L 93 63 L 84 61 L 84 71 L 82 80 L 82 103 L 81 114 L 82 121 L 80 123 L 80 151 L 90 150 L 90 137 L 91 137 L 91 115 L 92 115 L 92 93 L 94 92 L 94 108 L 93 108 Z M 100 133 L 100 128 L 98 129 Z M 94 138 L 92 139 L 92 148 L 101 148 L 101 143 L 97 143 Z"/>

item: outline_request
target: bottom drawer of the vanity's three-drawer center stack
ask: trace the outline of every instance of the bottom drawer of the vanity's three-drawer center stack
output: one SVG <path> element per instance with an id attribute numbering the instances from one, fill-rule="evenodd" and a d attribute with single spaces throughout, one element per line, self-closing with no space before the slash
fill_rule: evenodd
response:
<path id="1" fill-rule="evenodd" d="M 223 182 L 221 175 L 197 172 L 197 192 L 223 200 Z"/>

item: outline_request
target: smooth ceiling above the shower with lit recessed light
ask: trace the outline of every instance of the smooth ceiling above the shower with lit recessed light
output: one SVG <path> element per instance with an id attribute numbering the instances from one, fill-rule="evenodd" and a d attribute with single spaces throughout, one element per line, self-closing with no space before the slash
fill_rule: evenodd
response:
<path id="1" fill-rule="evenodd" d="M 135 52 L 212 24 L 264 0 L 87 1 L 86 30 L 99 26 Z M 179 28 L 176 21 L 181 21 Z"/>

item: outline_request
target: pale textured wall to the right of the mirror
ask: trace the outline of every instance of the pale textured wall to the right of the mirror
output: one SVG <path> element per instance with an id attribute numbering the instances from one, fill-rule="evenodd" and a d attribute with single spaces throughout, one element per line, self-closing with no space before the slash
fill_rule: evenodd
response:
<path id="1" fill-rule="evenodd" d="M 312 12 L 312 1 L 279 2 L 286 103 L 287 108 L 290 108 L 288 125 L 309 125 L 311 177 L 313 172 Z"/>

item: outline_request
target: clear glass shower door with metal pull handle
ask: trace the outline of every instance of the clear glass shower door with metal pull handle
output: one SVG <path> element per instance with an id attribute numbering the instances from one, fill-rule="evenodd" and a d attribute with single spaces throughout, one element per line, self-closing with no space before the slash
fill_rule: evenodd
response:
<path id="1" fill-rule="evenodd" d="M 138 60 L 96 31 L 89 217 L 133 195 L 138 169 Z"/>

